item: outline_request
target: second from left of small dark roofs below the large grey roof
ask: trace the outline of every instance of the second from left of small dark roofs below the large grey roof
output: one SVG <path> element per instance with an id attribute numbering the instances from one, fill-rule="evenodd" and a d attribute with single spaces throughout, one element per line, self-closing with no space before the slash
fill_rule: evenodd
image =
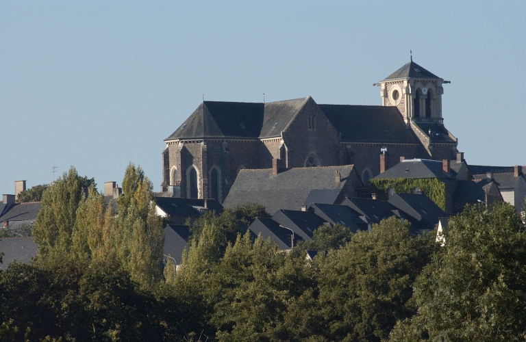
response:
<path id="1" fill-rule="evenodd" d="M 272 216 L 272 220 L 292 229 L 295 234 L 304 240 L 312 239 L 312 233 L 325 224 L 325 220 L 310 211 L 278 210 Z"/>

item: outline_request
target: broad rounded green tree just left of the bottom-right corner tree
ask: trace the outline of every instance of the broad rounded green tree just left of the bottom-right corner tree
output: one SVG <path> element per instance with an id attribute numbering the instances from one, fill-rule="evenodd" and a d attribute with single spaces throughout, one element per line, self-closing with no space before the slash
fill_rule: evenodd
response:
<path id="1" fill-rule="evenodd" d="M 436 248 L 434 237 L 410 235 L 409 224 L 392 217 L 360 231 L 343 248 L 314 259 L 327 338 L 381 341 L 397 319 L 416 312 L 413 282 Z"/>

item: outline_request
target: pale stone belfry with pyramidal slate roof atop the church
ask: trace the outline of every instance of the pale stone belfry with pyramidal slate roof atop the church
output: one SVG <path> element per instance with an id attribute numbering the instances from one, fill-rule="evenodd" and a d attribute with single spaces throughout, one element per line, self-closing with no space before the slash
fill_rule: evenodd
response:
<path id="1" fill-rule="evenodd" d="M 442 83 L 450 82 L 419 66 L 411 56 L 410 62 L 375 85 L 381 87 L 381 105 L 397 106 L 409 126 L 413 120 L 443 124 Z"/>

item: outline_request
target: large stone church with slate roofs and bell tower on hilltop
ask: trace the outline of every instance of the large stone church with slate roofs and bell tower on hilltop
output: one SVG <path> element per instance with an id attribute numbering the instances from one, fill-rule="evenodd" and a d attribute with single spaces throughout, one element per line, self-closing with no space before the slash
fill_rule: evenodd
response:
<path id="1" fill-rule="evenodd" d="M 401 158 L 455 159 L 444 127 L 444 79 L 410 60 L 375 86 L 381 105 L 203 101 L 162 152 L 162 191 L 225 200 L 243 168 L 353 164 L 364 184 Z"/>

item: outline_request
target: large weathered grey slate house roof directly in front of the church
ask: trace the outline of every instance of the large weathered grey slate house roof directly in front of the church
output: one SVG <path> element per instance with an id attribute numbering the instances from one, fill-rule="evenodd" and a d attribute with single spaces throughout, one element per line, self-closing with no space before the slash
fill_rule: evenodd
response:
<path id="1" fill-rule="evenodd" d="M 334 179 L 336 170 L 341 175 L 339 183 Z M 343 189 L 352 171 L 351 165 L 291 168 L 276 175 L 272 169 L 240 170 L 223 206 L 258 202 L 271 214 L 278 209 L 299 210 L 312 189 Z"/>

